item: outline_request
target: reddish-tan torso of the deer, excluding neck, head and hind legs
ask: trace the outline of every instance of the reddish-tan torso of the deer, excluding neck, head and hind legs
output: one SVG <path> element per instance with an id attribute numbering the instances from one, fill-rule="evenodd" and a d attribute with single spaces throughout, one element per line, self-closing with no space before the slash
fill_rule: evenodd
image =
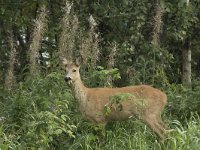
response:
<path id="1" fill-rule="evenodd" d="M 122 99 L 120 95 L 122 94 Z M 123 99 L 123 94 L 125 99 Z M 118 98 L 119 103 L 115 99 Z M 111 109 L 106 116 L 110 120 L 125 120 L 133 114 L 138 115 L 147 109 L 162 111 L 166 105 L 166 95 L 147 85 L 122 88 L 91 88 L 87 92 L 86 116 L 97 118 L 103 115 L 105 107 Z"/>

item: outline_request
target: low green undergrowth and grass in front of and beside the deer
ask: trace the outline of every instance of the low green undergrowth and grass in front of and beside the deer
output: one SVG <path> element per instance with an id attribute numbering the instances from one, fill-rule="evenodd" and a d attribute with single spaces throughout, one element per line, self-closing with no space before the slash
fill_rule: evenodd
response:
<path id="1" fill-rule="evenodd" d="M 165 141 L 133 118 L 105 130 L 81 117 L 61 73 L 36 76 L 12 91 L 0 87 L 0 149 L 198 150 L 199 90 L 171 85 L 163 120 L 173 129 Z"/>

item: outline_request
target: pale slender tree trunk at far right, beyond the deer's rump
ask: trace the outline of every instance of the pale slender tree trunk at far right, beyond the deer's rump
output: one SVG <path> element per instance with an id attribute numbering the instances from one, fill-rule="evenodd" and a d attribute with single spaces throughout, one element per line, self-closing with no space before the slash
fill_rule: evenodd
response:
<path id="1" fill-rule="evenodd" d="M 182 84 L 191 88 L 191 50 L 189 39 L 185 40 L 182 49 Z"/>

